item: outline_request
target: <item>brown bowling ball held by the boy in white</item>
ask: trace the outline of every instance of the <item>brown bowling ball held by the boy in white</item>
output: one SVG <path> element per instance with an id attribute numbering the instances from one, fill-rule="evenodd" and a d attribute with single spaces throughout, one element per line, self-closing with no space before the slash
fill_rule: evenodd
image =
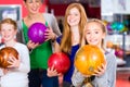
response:
<path id="1" fill-rule="evenodd" d="M 5 47 L 0 50 L 0 67 L 6 69 L 11 65 L 8 61 L 10 61 L 9 55 L 12 54 L 16 59 L 18 59 L 18 52 L 12 47 Z"/>

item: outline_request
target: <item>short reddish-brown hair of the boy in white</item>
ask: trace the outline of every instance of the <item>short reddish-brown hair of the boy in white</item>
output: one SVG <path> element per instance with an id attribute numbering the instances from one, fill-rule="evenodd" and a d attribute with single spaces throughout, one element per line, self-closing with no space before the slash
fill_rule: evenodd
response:
<path id="1" fill-rule="evenodd" d="M 17 29 L 17 24 L 15 21 L 13 21 L 12 18 L 4 18 L 0 22 L 0 30 L 1 30 L 2 24 L 5 24 L 5 23 L 13 25 L 14 29 Z"/>

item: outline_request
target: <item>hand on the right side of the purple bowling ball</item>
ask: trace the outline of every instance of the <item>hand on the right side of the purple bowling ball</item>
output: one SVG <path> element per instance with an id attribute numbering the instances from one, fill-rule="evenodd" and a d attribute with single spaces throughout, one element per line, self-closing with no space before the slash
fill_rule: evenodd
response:
<path id="1" fill-rule="evenodd" d="M 48 29 L 46 29 L 44 36 L 47 38 L 47 40 L 55 40 L 56 35 L 53 33 L 52 28 L 49 27 Z"/>

